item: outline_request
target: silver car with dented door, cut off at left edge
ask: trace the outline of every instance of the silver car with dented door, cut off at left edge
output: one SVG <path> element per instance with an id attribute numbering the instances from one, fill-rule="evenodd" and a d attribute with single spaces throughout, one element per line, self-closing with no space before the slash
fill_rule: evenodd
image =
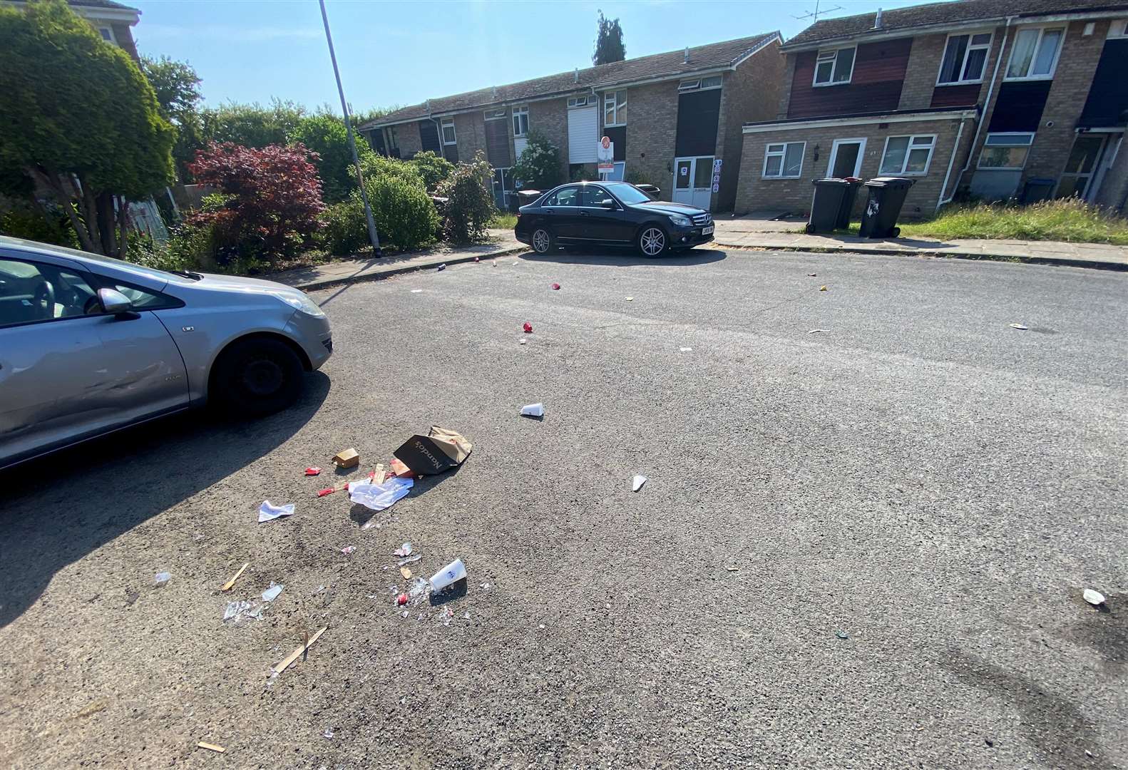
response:
<path id="1" fill-rule="evenodd" d="M 332 353 L 297 289 L 0 237 L 0 468 L 209 401 L 275 411 Z"/>

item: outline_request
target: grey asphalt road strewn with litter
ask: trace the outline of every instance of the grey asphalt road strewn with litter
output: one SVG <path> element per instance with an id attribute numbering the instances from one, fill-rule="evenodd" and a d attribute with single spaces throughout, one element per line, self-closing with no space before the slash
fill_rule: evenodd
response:
<path id="1" fill-rule="evenodd" d="M 1128 275 L 500 263 L 316 294 L 284 414 L 0 477 L 0 764 L 1128 767 Z M 474 453 L 379 528 L 301 475 L 431 424 Z M 405 618 L 404 540 L 465 591 Z"/>

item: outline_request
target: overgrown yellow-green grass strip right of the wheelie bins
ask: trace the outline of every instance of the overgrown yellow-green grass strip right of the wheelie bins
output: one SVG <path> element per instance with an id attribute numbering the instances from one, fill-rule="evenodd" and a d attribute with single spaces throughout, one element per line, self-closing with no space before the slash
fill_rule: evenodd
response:
<path id="1" fill-rule="evenodd" d="M 935 219 L 907 222 L 900 228 L 902 238 L 1007 238 L 1128 246 L 1128 220 L 1076 198 L 1026 206 L 987 203 L 949 206 Z"/>

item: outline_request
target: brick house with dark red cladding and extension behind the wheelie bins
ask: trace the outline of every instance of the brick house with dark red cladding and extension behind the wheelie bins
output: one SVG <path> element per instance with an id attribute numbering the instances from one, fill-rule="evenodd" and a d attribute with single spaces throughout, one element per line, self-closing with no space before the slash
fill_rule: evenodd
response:
<path id="1" fill-rule="evenodd" d="M 1126 19 L 1126 0 L 963 0 L 818 21 L 781 46 L 776 120 L 743 126 L 735 209 L 908 176 L 905 218 L 968 194 L 1123 211 Z"/>

